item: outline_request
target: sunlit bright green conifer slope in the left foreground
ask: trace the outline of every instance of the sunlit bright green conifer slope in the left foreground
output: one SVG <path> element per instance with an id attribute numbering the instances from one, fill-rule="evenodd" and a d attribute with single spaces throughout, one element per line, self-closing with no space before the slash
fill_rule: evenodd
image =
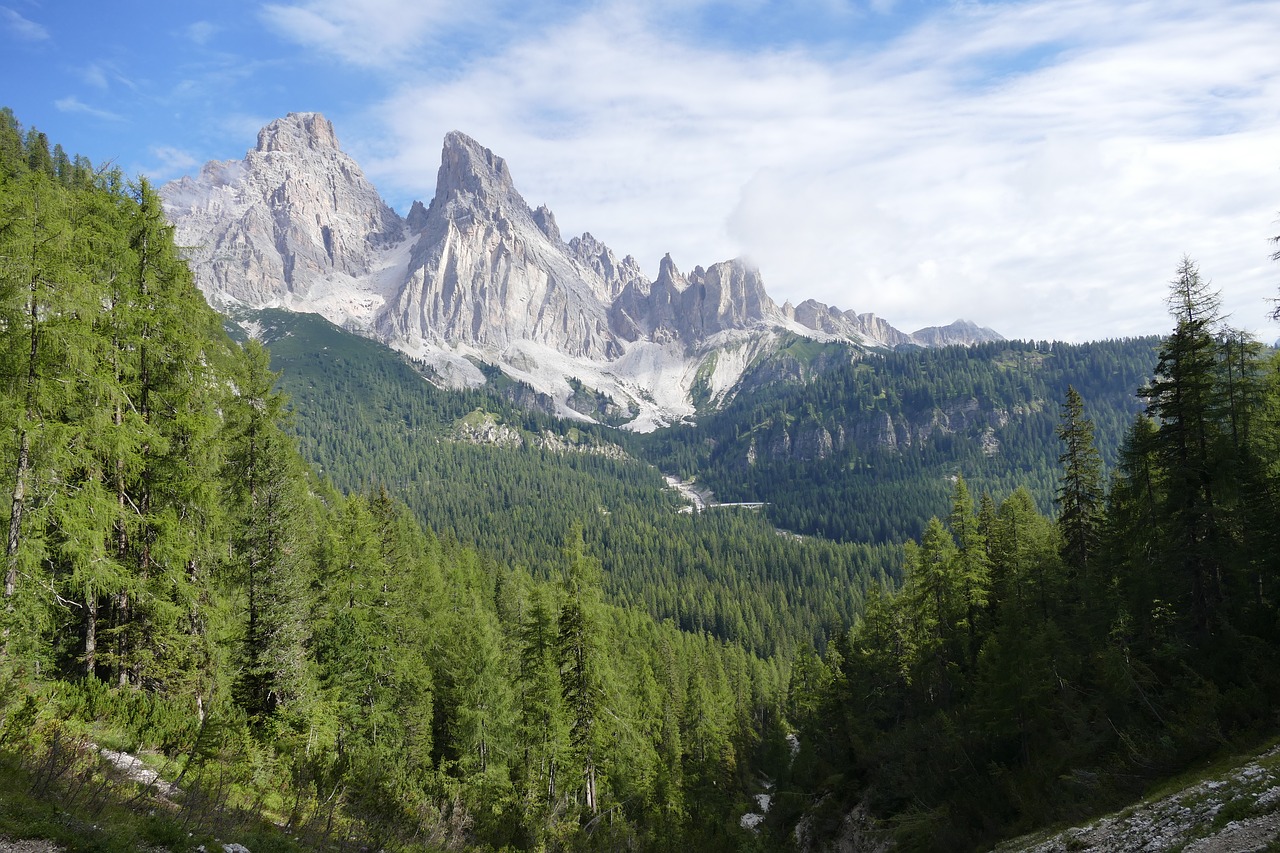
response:
<path id="1" fill-rule="evenodd" d="M 535 580 L 384 489 L 335 489 L 297 452 L 265 348 L 233 343 L 193 287 L 151 187 L 9 111 L 0 359 L 0 835 L 749 839 L 737 816 L 786 756 L 781 658 L 604 603 L 590 519 Z M 137 794 L 105 745 L 173 786 Z"/>

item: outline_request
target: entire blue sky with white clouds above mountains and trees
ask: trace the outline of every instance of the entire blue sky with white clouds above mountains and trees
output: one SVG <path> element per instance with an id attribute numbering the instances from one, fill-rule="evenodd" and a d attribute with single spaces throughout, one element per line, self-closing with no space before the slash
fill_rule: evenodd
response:
<path id="1" fill-rule="evenodd" d="M 1272 342 L 1277 45 L 1275 0 L 0 0 L 0 105 L 154 182 L 320 111 L 402 214 L 458 129 L 650 277 L 904 330 L 1165 333 L 1189 256 Z"/>

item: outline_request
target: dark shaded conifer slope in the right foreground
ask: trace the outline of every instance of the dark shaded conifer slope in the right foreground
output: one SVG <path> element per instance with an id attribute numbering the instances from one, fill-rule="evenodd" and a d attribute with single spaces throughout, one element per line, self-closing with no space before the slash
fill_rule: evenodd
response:
<path id="1" fill-rule="evenodd" d="M 1193 261 L 1169 305 L 1110 485 L 1071 391 L 1056 520 L 957 480 L 902 589 L 797 663 L 805 794 L 786 808 L 829 795 L 813 836 L 856 811 L 905 849 L 980 848 L 1275 735 L 1280 362 L 1225 325 Z"/>

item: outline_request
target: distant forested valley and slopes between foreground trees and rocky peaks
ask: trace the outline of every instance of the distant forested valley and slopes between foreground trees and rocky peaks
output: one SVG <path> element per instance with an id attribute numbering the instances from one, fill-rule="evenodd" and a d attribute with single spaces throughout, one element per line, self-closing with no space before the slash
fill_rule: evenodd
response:
<path id="1" fill-rule="evenodd" d="M 860 612 L 868 585 L 896 583 L 900 543 L 943 511 L 957 474 L 993 494 L 1029 485 L 1047 510 L 1068 384 L 1094 394 L 1114 462 L 1158 345 L 876 353 L 796 339 L 723 411 L 637 437 L 527 409 L 530 392 L 509 380 L 435 388 L 312 315 L 248 321 L 282 371 L 303 453 L 343 488 L 385 485 L 430 528 L 539 576 L 568 526 L 590 520 L 586 546 L 612 601 L 762 653 L 820 647 Z M 659 467 L 768 506 L 681 515 Z"/>

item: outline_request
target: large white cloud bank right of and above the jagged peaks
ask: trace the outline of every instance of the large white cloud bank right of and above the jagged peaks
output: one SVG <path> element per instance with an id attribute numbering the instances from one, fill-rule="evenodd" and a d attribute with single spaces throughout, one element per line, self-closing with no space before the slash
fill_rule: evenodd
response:
<path id="1" fill-rule="evenodd" d="M 1187 252 L 1257 329 L 1280 280 L 1276 44 L 1267 4 L 1044 0 L 951 6 L 837 59 L 733 54 L 617 4 L 403 86 L 369 165 L 429 196 L 458 128 L 566 234 L 650 274 L 667 251 L 748 254 L 778 301 L 904 328 L 1165 330 Z"/>

